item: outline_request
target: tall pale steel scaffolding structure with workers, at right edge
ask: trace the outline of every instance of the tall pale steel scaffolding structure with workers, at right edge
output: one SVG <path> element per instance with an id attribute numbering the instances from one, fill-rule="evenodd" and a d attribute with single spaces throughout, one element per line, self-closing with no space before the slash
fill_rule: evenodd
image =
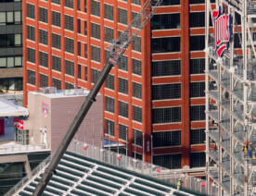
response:
<path id="1" fill-rule="evenodd" d="M 210 26 L 213 8 L 207 0 L 207 176 L 219 187 L 220 196 L 253 195 L 256 192 L 256 1 L 216 0 L 216 9 L 219 6 L 224 6 L 225 10 L 220 10 L 231 18 L 232 36 L 229 48 L 219 57 L 214 49 L 214 21 L 211 20 L 213 27 Z M 240 48 L 235 48 L 235 32 Z"/>

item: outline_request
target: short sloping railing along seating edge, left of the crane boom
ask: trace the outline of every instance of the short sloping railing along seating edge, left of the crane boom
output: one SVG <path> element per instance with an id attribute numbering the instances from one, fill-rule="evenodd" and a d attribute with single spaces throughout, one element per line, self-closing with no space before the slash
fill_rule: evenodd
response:
<path id="1" fill-rule="evenodd" d="M 17 185 L 15 185 L 11 190 L 7 191 L 5 196 L 13 196 L 18 190 L 20 190 L 22 187 L 27 185 L 27 183 L 35 176 L 37 175 L 42 169 L 45 168 L 46 165 L 48 165 L 51 161 L 51 155 L 49 155 L 45 160 L 37 165 L 30 174 L 28 174 L 26 177 L 22 178 Z"/>

